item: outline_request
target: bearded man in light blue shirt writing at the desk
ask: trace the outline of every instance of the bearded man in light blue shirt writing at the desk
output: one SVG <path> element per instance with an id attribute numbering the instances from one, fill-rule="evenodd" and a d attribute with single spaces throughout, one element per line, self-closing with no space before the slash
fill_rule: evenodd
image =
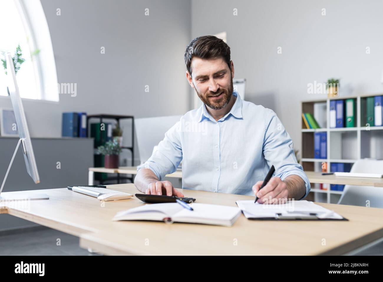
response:
<path id="1" fill-rule="evenodd" d="M 203 105 L 169 129 L 137 168 L 134 184 L 152 195 L 182 197 L 169 181 L 182 160 L 183 188 L 257 195 L 259 203 L 303 199 L 310 183 L 275 112 L 233 91 L 230 48 L 215 36 L 195 38 L 185 51 L 186 78 Z M 259 190 L 269 168 L 275 176 Z"/>

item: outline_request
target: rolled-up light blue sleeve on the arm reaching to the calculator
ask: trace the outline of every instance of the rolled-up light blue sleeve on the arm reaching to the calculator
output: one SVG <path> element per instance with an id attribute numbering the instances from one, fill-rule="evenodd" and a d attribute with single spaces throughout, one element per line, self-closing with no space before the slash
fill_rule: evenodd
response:
<path id="1" fill-rule="evenodd" d="M 151 155 L 149 160 L 137 167 L 137 172 L 141 168 L 149 168 L 157 178 L 162 181 L 165 175 L 177 170 L 182 161 L 182 147 L 180 142 L 180 122 L 173 125 L 166 133 L 165 138 Z"/>

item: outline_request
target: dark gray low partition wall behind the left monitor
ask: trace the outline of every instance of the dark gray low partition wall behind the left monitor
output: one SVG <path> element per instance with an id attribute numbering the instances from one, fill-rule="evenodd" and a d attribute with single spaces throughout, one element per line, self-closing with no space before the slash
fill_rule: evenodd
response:
<path id="1" fill-rule="evenodd" d="M 18 138 L 0 137 L 2 159 L 0 162 L 0 183 L 3 182 L 17 142 Z M 26 172 L 20 146 L 15 160 L 13 160 L 7 181 L 5 181 L 3 192 L 65 188 L 69 185 L 88 184 L 88 168 L 93 166 L 93 139 L 33 138 L 32 144 L 40 183 L 34 184 Z M 57 162 L 61 164 L 60 169 L 57 169 Z M 0 231 L 36 225 L 15 216 L 0 214 Z"/>

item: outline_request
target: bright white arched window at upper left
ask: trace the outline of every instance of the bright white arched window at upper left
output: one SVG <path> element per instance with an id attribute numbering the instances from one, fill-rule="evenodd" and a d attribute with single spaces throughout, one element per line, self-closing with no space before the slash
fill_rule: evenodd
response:
<path id="1" fill-rule="evenodd" d="M 21 50 L 16 79 L 20 96 L 28 99 L 59 101 L 57 73 L 51 36 L 40 1 L 2 1 L 0 51 L 15 56 Z M 0 96 L 7 96 L 7 79 L 0 65 Z"/>

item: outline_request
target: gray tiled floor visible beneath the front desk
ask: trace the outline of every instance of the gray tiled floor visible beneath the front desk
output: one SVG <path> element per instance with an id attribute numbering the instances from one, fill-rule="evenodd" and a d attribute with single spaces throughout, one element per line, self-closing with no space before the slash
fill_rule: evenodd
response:
<path id="1" fill-rule="evenodd" d="M 60 244 L 57 245 L 60 239 Z M 50 228 L 0 236 L 0 256 L 98 256 L 80 248 L 79 238 Z M 357 255 L 383 256 L 383 242 Z"/>

